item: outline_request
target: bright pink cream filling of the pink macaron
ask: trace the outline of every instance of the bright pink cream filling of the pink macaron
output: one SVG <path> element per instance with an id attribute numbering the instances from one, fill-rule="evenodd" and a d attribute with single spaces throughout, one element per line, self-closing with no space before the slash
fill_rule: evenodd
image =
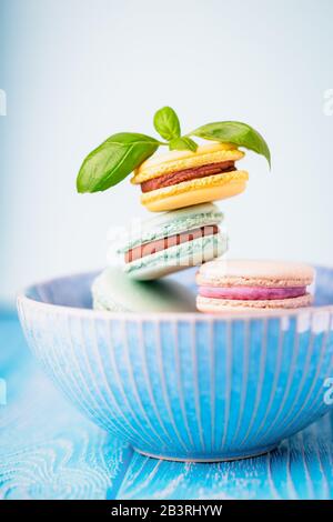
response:
<path id="1" fill-rule="evenodd" d="M 306 287 L 200 287 L 203 298 L 230 299 L 241 301 L 266 301 L 272 299 L 292 299 L 306 294 Z"/>

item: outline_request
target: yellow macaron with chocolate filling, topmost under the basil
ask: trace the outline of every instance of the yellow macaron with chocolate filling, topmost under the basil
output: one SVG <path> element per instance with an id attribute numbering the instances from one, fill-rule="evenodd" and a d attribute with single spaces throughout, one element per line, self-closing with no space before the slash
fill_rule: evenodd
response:
<path id="1" fill-rule="evenodd" d="M 172 151 L 144 161 L 132 183 L 140 184 L 141 202 L 152 212 L 231 198 L 243 192 L 249 174 L 236 170 L 244 152 L 231 143 L 209 143 L 196 152 Z"/>

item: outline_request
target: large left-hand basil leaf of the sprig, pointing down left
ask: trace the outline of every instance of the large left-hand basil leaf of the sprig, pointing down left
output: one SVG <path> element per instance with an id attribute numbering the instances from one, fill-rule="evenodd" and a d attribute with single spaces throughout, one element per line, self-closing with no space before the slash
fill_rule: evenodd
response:
<path id="1" fill-rule="evenodd" d="M 145 134 L 111 135 L 83 161 L 77 179 L 78 192 L 99 192 L 115 185 L 150 158 L 159 144 Z"/>

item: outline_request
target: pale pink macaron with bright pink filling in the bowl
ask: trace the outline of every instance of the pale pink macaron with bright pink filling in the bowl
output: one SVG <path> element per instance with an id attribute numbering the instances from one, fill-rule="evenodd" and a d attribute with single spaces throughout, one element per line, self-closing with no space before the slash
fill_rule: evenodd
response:
<path id="1" fill-rule="evenodd" d="M 313 280 L 313 268 L 303 263 L 220 259 L 196 274 L 196 308 L 211 313 L 309 307 Z"/>

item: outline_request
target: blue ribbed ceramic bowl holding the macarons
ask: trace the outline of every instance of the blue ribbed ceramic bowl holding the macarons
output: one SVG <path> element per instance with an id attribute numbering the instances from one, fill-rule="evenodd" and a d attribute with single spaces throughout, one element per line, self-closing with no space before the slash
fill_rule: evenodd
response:
<path id="1" fill-rule="evenodd" d="M 260 317 L 98 312 L 93 277 L 31 287 L 19 297 L 21 322 L 71 402 L 139 452 L 256 455 L 329 410 L 333 270 L 317 271 L 315 307 Z"/>

